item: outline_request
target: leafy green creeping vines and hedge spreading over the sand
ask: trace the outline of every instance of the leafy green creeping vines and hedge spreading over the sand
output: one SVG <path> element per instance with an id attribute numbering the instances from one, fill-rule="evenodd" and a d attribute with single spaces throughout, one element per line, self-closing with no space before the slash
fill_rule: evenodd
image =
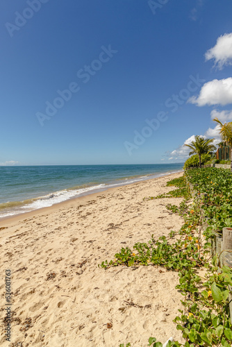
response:
<path id="1" fill-rule="evenodd" d="M 130 248 L 122 248 L 115 254 L 115 260 L 102 262 L 101 267 L 124 264 L 126 266 L 152 265 L 165 266 L 179 271 L 179 285 L 176 289 L 183 294 L 183 310 L 174 319 L 177 330 L 181 330 L 185 344 L 169 341 L 168 347 L 225 346 L 232 345 L 232 330 L 229 316 L 229 286 L 232 285 L 232 271 L 223 266 L 219 271 L 217 256 L 208 260 L 210 238 L 214 230 L 222 232 L 224 226 L 232 226 L 232 175 L 228 170 L 207 168 L 191 169 L 187 172 L 188 182 L 195 190 L 192 204 L 187 199 L 181 205 L 168 204 L 167 208 L 183 216 L 183 226 L 178 232 L 169 232 L 168 237 L 156 239 L 152 235 L 146 243 L 138 242 Z M 168 186 L 176 185 L 183 189 L 183 178 L 169 181 Z M 175 192 L 173 190 L 172 192 Z M 204 201 L 199 194 L 206 193 Z M 205 195 L 206 195 L 205 194 Z M 174 194 L 175 195 L 175 194 Z M 172 197 L 174 196 L 172 194 Z M 176 194 L 179 196 L 179 194 Z M 161 198 L 160 196 L 158 196 Z M 156 197 L 156 198 L 158 198 Z M 163 195 L 168 198 L 170 195 Z M 150 200 L 151 198 L 148 198 Z M 201 209 L 209 217 L 210 226 L 202 233 Z M 173 243 L 173 239 L 176 242 Z M 169 240 L 172 239 L 172 244 Z M 206 276 L 197 275 L 197 269 L 204 266 Z M 124 346 L 121 344 L 121 346 Z M 130 346 L 130 344 L 126 344 Z M 162 347 L 163 344 L 150 337 L 149 346 Z"/>

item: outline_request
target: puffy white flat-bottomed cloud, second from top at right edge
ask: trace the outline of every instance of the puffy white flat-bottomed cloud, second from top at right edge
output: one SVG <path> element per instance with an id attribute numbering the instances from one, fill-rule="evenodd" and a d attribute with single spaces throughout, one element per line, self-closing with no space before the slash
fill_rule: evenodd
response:
<path id="1" fill-rule="evenodd" d="M 195 103 L 197 106 L 227 105 L 232 103 L 232 78 L 215 79 L 205 83 L 201 87 L 199 96 L 192 96 L 188 99 L 188 102 Z"/>

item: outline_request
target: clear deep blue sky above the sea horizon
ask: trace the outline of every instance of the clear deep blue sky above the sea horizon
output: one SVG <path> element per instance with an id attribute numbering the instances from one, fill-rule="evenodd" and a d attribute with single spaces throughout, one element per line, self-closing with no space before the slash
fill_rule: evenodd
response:
<path id="1" fill-rule="evenodd" d="M 213 115 L 232 120 L 231 13 L 229 0 L 1 0 L 0 163 L 183 162 L 193 135 L 217 137 Z"/>

